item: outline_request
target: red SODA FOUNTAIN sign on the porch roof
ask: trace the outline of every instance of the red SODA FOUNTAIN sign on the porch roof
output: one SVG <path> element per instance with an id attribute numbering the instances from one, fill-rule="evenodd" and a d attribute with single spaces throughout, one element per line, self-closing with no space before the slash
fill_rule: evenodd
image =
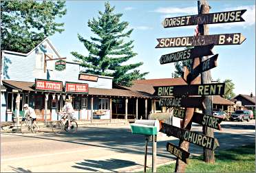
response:
<path id="1" fill-rule="evenodd" d="M 62 91 L 62 81 L 36 79 L 36 90 L 41 91 Z"/>

